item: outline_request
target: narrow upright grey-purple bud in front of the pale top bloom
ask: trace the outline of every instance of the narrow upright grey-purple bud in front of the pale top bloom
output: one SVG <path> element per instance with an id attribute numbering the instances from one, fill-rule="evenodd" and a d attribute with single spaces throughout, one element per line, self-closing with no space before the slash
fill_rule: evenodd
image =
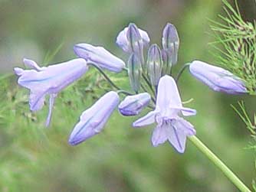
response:
<path id="1" fill-rule="evenodd" d="M 130 49 L 137 57 L 141 63 L 144 63 L 143 56 L 143 37 L 139 34 L 139 29 L 136 24 L 129 24 L 126 34 L 127 40 L 130 44 Z"/>

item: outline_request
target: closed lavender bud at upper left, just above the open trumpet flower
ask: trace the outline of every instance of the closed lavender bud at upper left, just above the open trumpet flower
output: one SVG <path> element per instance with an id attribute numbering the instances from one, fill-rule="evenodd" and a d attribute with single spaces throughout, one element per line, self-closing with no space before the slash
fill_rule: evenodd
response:
<path id="1" fill-rule="evenodd" d="M 78 57 L 87 60 L 87 63 L 94 63 L 98 67 L 113 72 L 120 72 L 125 68 L 123 60 L 114 56 L 110 51 L 103 47 L 95 47 L 91 44 L 76 44 L 74 45 L 74 53 Z"/>

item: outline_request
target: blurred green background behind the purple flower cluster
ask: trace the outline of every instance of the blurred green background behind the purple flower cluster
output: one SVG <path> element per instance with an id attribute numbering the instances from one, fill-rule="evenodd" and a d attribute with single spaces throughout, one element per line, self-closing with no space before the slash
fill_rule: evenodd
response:
<path id="1" fill-rule="evenodd" d="M 246 20 L 255 18 L 253 0 L 238 5 Z M 115 38 L 131 21 L 157 44 L 166 22 L 176 25 L 180 49 L 175 71 L 195 59 L 215 63 L 208 19 L 219 21 L 222 6 L 211 0 L 0 0 L 0 191 L 238 191 L 191 142 L 184 155 L 168 143 L 153 148 L 153 126 L 132 129 L 137 117 L 114 112 L 100 135 L 76 147 L 68 145 L 80 113 L 107 89 L 106 83 L 92 89 L 97 84 L 94 70 L 57 97 L 50 129 L 44 128 L 48 106 L 31 113 L 28 90 L 8 76 L 13 67 L 23 66 L 23 57 L 42 65 L 70 60 L 74 44 L 80 42 L 101 45 L 126 60 Z M 128 87 L 123 74 L 110 75 Z M 188 71 L 179 89 L 182 100 L 194 98 L 187 106 L 198 111 L 189 118 L 198 137 L 251 186 L 254 151 L 245 148 L 253 141 L 230 104 L 243 99 L 252 115 L 255 98 L 214 93 Z"/>

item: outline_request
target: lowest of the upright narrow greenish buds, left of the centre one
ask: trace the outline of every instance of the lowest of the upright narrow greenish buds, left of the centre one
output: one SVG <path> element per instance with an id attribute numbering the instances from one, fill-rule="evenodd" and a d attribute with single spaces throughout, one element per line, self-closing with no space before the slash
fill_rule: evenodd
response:
<path id="1" fill-rule="evenodd" d="M 130 85 L 136 93 L 139 91 L 141 70 L 139 58 L 135 54 L 131 54 L 128 60 L 128 75 Z"/>

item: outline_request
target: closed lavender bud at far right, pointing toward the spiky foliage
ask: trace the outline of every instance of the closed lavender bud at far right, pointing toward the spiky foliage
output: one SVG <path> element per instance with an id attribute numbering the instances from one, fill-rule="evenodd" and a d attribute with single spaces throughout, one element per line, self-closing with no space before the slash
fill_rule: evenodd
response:
<path id="1" fill-rule="evenodd" d="M 228 70 L 222 69 L 222 67 L 216 67 L 199 60 L 194 60 L 190 63 L 189 70 L 195 78 L 215 91 L 229 94 L 248 92 L 245 83 L 238 76 L 235 76 Z"/>

